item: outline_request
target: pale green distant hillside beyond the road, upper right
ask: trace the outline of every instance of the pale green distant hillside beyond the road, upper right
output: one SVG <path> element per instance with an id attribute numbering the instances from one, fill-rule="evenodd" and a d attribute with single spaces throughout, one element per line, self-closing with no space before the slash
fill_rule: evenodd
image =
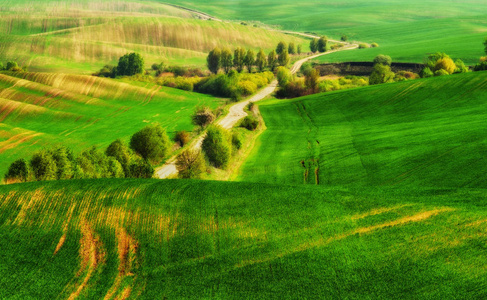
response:
<path id="1" fill-rule="evenodd" d="M 340 53 L 336 60 L 371 60 L 383 53 L 397 61 L 421 62 L 442 51 L 475 63 L 487 36 L 487 6 L 480 0 L 347 1 L 165 1 L 226 19 L 258 20 L 284 29 L 378 42 L 380 49 Z M 323 57 L 328 60 L 331 57 Z"/>

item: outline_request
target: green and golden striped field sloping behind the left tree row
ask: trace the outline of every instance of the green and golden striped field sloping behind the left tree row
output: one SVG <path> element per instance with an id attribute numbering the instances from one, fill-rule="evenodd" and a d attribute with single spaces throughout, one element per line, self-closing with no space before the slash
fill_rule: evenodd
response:
<path id="1" fill-rule="evenodd" d="M 149 123 L 170 135 L 193 129 L 195 107 L 221 99 L 177 89 L 84 75 L 0 74 L 0 174 L 39 149 L 64 145 L 76 152 L 106 147 Z M 22 78 L 13 77 L 13 75 Z"/>

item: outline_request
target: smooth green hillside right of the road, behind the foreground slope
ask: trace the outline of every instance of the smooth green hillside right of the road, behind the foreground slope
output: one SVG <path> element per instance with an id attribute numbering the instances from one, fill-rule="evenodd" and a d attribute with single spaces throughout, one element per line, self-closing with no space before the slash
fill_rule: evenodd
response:
<path id="1" fill-rule="evenodd" d="M 486 91 L 479 72 L 267 101 L 240 180 L 485 188 Z"/>

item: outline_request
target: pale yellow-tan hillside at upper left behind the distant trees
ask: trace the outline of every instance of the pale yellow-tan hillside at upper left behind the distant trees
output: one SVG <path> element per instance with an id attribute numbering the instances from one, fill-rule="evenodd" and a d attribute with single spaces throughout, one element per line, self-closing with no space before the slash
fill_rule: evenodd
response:
<path id="1" fill-rule="evenodd" d="M 0 7 L 10 1 L 0 0 Z M 194 19 L 152 1 L 23 1 L 0 11 L 0 61 L 18 60 L 31 71 L 92 73 L 139 52 L 146 66 L 203 67 L 215 46 L 274 48 L 280 40 L 305 40 L 238 23 Z M 48 17 L 47 17 L 48 16 Z"/>

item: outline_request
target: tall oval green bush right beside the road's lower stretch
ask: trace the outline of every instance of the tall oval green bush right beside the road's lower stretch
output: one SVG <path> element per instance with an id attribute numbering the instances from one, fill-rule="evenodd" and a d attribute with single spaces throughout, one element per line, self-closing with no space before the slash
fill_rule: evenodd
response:
<path id="1" fill-rule="evenodd" d="M 228 133 L 225 129 L 217 126 L 209 127 L 201 148 L 211 165 L 221 169 L 225 169 L 228 166 L 231 147 Z"/>

